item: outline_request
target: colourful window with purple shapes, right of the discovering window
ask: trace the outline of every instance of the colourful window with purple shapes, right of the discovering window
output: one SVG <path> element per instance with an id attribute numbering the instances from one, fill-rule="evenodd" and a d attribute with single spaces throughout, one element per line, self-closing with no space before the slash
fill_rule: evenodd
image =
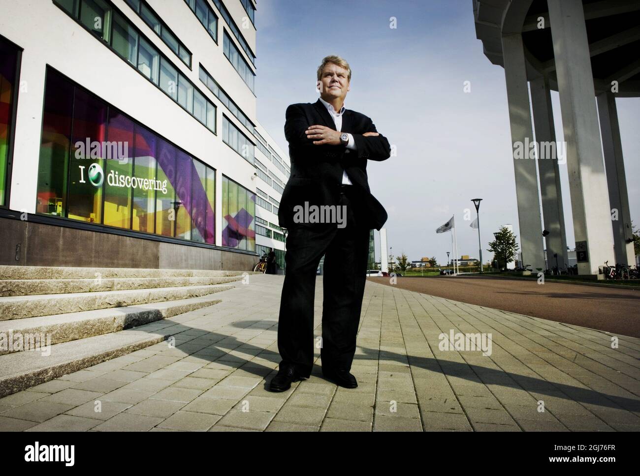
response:
<path id="1" fill-rule="evenodd" d="M 222 176 L 222 245 L 255 251 L 255 194 Z"/>

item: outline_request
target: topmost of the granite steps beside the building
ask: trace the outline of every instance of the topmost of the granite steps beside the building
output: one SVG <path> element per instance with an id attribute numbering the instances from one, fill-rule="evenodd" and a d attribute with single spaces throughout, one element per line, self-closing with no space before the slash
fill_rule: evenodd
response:
<path id="1" fill-rule="evenodd" d="M 159 270 L 145 268 L 70 268 L 61 266 L 0 266 L 1 279 L 105 279 L 241 276 L 253 271 Z"/>

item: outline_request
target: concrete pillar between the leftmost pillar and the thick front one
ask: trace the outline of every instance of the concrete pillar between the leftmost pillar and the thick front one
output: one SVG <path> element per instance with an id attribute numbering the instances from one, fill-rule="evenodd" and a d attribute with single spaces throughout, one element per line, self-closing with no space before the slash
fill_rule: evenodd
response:
<path id="1" fill-rule="evenodd" d="M 554 112 L 551 106 L 551 91 L 545 77 L 532 79 L 531 107 L 533 125 L 538 144 L 538 172 L 542 196 L 542 216 L 547 235 L 547 266 L 564 269 L 569 261 L 566 254 L 566 234 L 564 231 L 564 211 L 560 187 L 560 160 L 566 160 L 566 149 L 558 148 Z M 564 164 L 563 164 L 564 165 Z M 554 254 L 557 257 L 554 257 Z"/>

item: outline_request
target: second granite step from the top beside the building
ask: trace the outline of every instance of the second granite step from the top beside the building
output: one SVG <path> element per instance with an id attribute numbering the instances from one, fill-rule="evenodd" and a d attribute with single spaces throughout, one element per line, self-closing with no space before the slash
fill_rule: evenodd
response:
<path id="1" fill-rule="evenodd" d="M 31 296 L 63 293 L 92 293 L 124 289 L 205 286 L 242 280 L 242 275 L 211 277 L 141 277 L 93 279 L 5 279 L 0 280 L 0 296 Z"/>

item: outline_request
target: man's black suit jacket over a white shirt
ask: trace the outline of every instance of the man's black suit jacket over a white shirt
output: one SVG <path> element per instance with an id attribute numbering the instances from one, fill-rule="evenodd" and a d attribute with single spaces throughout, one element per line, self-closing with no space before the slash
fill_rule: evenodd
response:
<path id="1" fill-rule="evenodd" d="M 305 201 L 309 205 L 337 206 L 340 201 L 342 171 L 346 171 L 358 199 L 356 220 L 369 229 L 380 230 L 387 221 L 387 211 L 369 190 L 367 160 L 385 160 L 390 157 L 391 148 L 387 138 L 381 134 L 369 137 L 362 135 L 365 132 L 378 132 L 371 118 L 351 109 L 345 109 L 342 114 L 340 132 L 350 132 L 353 135 L 356 150 L 349 150 L 343 145 L 317 146 L 313 144 L 314 139 L 307 139 L 305 130 L 312 125 L 324 125 L 335 130 L 333 118 L 319 99 L 313 104 L 289 105 L 285 118 L 284 134 L 289 142 L 291 177 L 280 200 L 280 226 L 291 227 L 294 206 L 304 207 Z"/>

